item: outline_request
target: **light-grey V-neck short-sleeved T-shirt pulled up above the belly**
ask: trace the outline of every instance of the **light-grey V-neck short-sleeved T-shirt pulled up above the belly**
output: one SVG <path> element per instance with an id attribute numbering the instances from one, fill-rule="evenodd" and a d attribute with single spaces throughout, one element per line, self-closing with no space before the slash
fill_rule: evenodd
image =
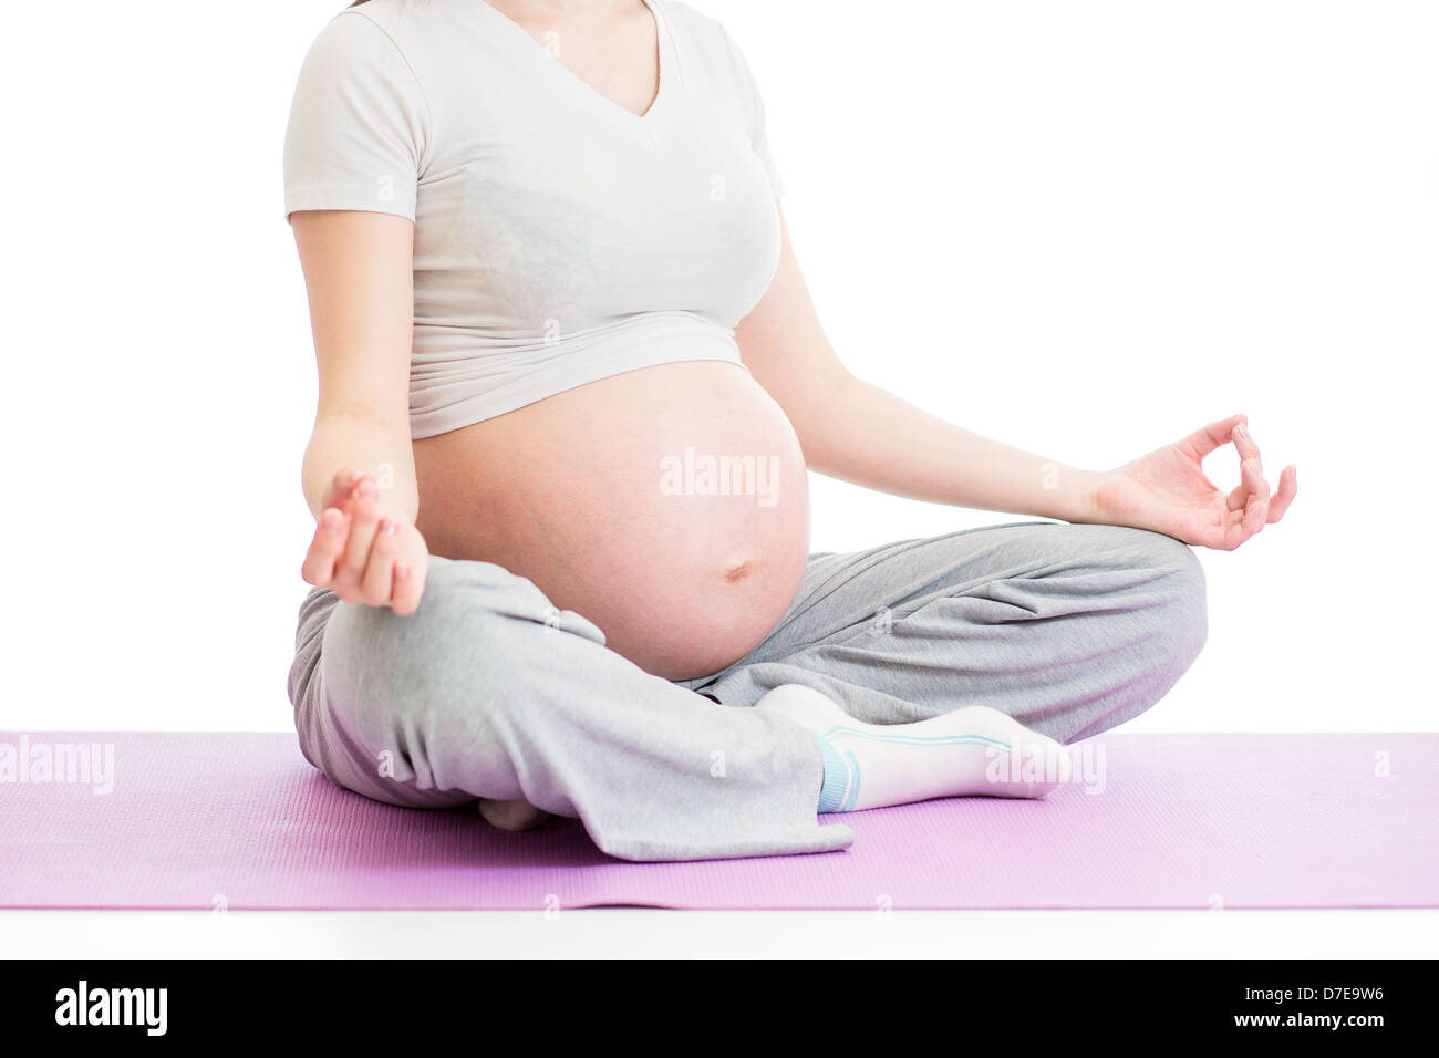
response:
<path id="1" fill-rule="evenodd" d="M 414 222 L 414 438 L 637 367 L 740 363 L 780 252 L 764 108 L 718 22 L 645 3 L 643 117 L 484 0 L 370 0 L 305 56 L 285 216 Z"/>

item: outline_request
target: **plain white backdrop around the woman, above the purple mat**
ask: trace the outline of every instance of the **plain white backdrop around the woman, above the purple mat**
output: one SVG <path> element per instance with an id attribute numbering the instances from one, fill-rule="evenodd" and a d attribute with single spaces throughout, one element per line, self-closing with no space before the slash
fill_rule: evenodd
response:
<path id="1" fill-rule="evenodd" d="M 341 4 L 6 14 L 0 728 L 289 730 L 315 379 L 281 138 Z M 1299 465 L 1284 524 L 1203 553 L 1209 646 L 1132 730 L 1433 728 L 1439 9 L 696 6 L 858 374 L 1082 466 L 1238 410 Z M 816 479 L 813 543 L 1007 520 Z"/>

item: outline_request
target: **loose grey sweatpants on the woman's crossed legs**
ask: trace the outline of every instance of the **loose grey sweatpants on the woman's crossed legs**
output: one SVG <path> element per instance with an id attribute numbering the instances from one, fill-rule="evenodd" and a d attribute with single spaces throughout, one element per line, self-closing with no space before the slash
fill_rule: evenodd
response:
<path id="1" fill-rule="evenodd" d="M 990 705 L 1068 743 L 1158 701 L 1204 635 L 1193 551 L 1112 525 L 814 554 L 763 643 L 679 682 L 607 649 L 530 580 L 432 559 L 406 618 L 311 590 L 289 698 L 305 757 L 367 797 L 522 797 L 625 859 L 826 852 L 853 832 L 820 826 L 816 741 L 747 708 L 766 691 L 806 684 L 876 724 Z"/>

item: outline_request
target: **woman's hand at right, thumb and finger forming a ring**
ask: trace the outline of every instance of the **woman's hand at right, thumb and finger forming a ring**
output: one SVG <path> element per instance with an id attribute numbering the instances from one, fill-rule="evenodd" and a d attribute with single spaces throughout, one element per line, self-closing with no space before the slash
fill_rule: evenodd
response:
<path id="1" fill-rule="evenodd" d="M 1299 488 L 1289 465 L 1279 474 L 1278 491 L 1271 492 L 1248 422 L 1243 415 L 1232 415 L 1102 475 L 1094 491 L 1095 521 L 1233 551 L 1266 524 L 1279 521 Z M 1239 452 L 1240 482 L 1225 494 L 1204 476 L 1202 464 L 1230 442 Z"/>

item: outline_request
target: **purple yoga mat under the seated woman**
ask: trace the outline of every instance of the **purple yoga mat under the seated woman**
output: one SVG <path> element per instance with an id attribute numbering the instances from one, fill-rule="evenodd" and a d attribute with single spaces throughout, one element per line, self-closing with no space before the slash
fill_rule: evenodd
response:
<path id="1" fill-rule="evenodd" d="M 78 743 L 109 793 L 71 770 Z M 1439 734 L 1109 734 L 1071 753 L 1091 780 L 1042 802 L 829 818 L 855 831 L 843 852 L 630 864 L 571 819 L 511 835 L 473 810 L 366 800 L 294 736 L 3 734 L 0 907 L 1439 904 Z M 76 782 L 39 782 L 46 754 Z"/>

